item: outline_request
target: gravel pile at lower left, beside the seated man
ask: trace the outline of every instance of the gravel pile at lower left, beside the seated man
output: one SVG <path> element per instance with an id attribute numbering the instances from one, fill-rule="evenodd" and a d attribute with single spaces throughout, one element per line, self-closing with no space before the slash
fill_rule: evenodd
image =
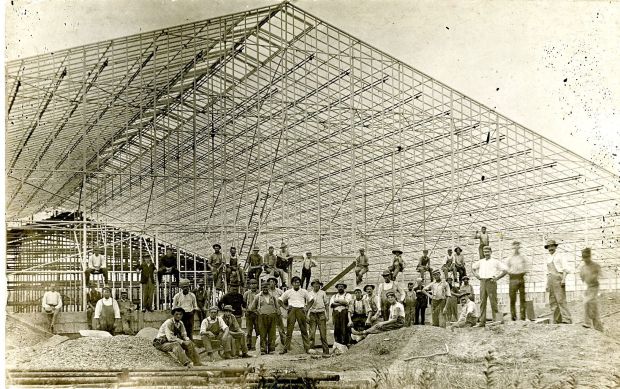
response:
<path id="1" fill-rule="evenodd" d="M 152 339 L 119 335 L 111 338 L 78 338 L 30 355 L 15 353 L 14 367 L 30 369 L 174 368 L 173 358 L 156 350 Z M 11 366 L 11 367 L 13 367 Z"/>

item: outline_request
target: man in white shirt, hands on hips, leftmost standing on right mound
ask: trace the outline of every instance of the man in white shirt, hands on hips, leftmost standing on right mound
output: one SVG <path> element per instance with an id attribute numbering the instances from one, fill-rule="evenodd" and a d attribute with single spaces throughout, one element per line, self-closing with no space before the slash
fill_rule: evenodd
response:
<path id="1" fill-rule="evenodd" d="M 487 297 L 491 302 L 493 321 L 497 322 L 497 280 L 508 273 L 508 268 L 502 262 L 491 258 L 492 250 L 489 246 L 483 248 L 484 258 L 474 263 L 472 272 L 480 280 L 480 318 L 477 327 L 484 327 L 487 323 Z"/>

